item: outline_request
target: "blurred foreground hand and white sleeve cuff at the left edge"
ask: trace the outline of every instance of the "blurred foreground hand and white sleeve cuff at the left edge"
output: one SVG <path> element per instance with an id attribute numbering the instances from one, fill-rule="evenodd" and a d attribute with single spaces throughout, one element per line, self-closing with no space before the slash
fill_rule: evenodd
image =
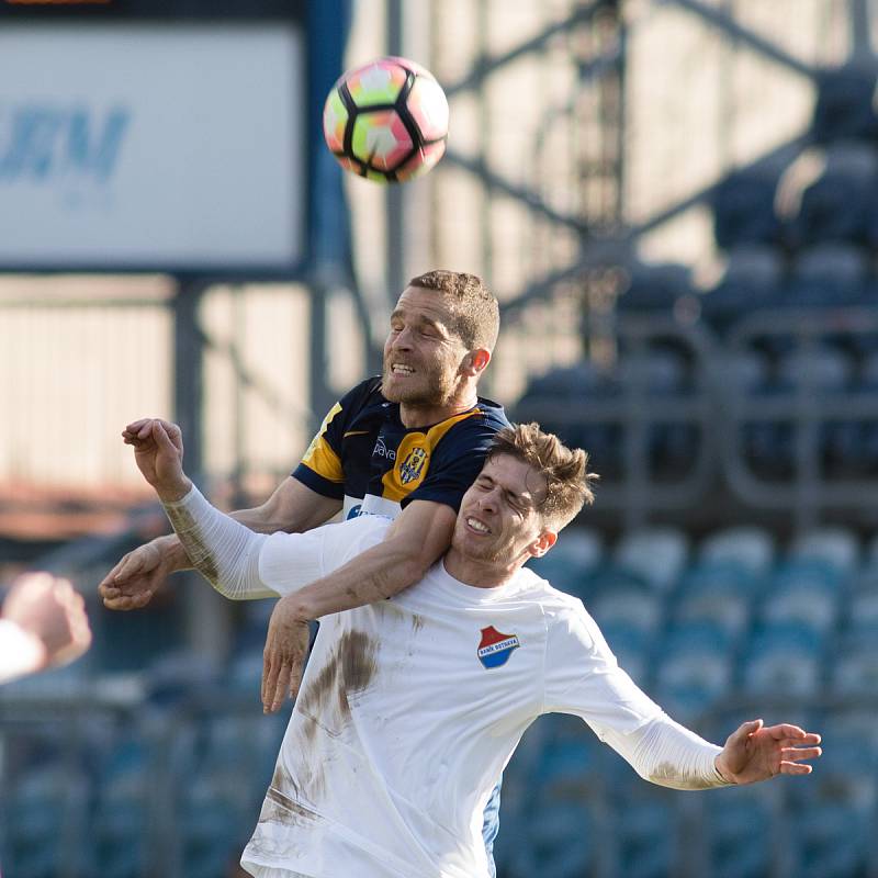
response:
<path id="1" fill-rule="evenodd" d="M 0 615 L 0 683 L 68 664 L 91 645 L 82 596 L 67 579 L 25 573 Z"/>

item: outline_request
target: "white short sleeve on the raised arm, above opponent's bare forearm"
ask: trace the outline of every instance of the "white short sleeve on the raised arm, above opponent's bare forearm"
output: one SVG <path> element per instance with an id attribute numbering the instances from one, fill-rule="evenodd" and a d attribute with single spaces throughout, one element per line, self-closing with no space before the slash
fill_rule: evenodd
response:
<path id="1" fill-rule="evenodd" d="M 320 579 L 384 539 L 390 520 L 363 515 L 305 533 L 272 533 L 259 552 L 259 578 L 290 595 Z"/>

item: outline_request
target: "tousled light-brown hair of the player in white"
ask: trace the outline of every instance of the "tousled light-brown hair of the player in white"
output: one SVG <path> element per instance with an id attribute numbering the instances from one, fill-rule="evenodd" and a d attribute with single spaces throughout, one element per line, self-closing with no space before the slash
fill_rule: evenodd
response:
<path id="1" fill-rule="evenodd" d="M 600 476 L 588 472 L 588 454 L 581 448 L 567 448 L 554 434 L 543 432 L 539 424 L 504 427 L 494 437 L 487 458 L 497 454 L 511 454 L 545 479 L 539 513 L 551 530 L 561 530 L 585 504 L 595 502 L 592 484 Z"/>

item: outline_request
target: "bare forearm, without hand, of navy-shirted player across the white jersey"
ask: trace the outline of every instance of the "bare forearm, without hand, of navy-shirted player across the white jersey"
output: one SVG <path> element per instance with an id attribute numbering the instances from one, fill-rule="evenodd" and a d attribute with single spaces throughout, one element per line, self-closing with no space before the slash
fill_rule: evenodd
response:
<path id="1" fill-rule="evenodd" d="M 398 595 L 423 578 L 428 566 L 408 541 L 389 539 L 288 599 L 296 616 L 311 621 Z"/>

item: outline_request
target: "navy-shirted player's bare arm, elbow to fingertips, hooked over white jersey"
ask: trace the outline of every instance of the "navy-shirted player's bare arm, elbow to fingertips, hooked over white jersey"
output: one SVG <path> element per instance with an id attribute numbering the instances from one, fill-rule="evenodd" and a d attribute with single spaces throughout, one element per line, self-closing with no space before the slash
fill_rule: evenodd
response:
<path id="1" fill-rule="evenodd" d="M 384 540 L 344 566 L 283 597 L 268 627 L 262 706 L 280 709 L 301 674 L 302 631 L 312 619 L 384 600 L 414 585 L 451 544 L 457 513 L 444 503 L 413 500 Z"/>

